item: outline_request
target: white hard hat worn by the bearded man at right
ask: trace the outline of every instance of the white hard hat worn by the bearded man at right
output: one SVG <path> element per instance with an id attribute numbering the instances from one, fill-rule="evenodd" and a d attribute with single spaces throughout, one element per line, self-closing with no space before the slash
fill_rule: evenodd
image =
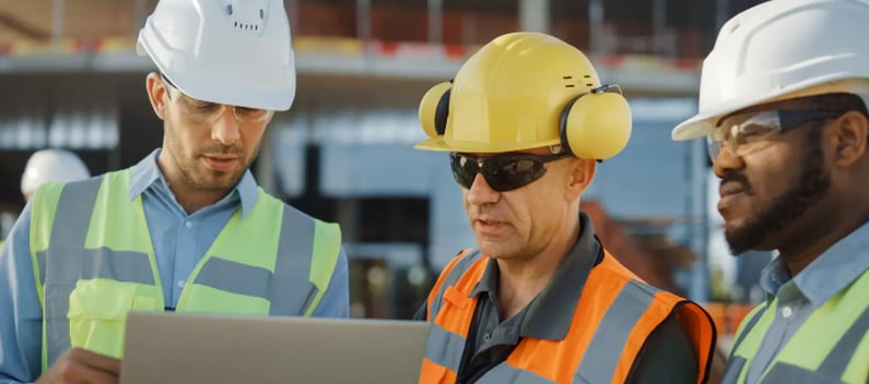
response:
<path id="1" fill-rule="evenodd" d="M 707 135 L 719 118 L 758 104 L 869 94 L 867 36 L 864 0 L 772 0 L 736 15 L 703 61 L 698 112 L 673 129 L 673 140 Z"/>

